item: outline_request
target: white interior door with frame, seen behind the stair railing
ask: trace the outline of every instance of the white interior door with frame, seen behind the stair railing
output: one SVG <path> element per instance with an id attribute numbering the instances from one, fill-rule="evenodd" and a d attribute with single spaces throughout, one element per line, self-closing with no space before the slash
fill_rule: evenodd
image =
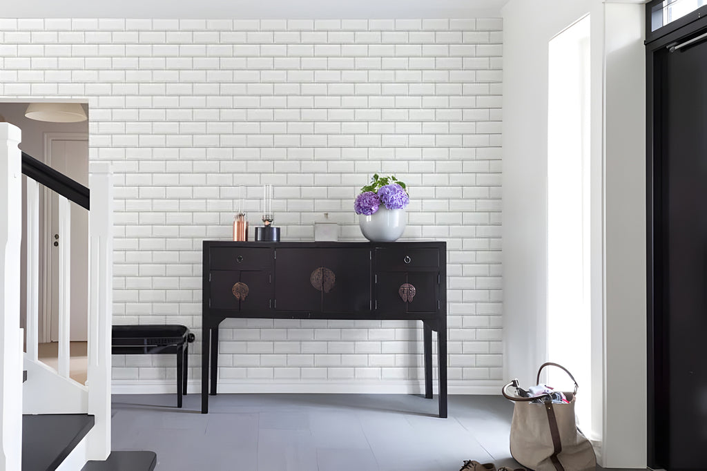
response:
<path id="1" fill-rule="evenodd" d="M 72 139 L 74 135 L 54 134 L 45 139 L 47 164 L 69 178 L 88 187 L 88 140 Z M 48 213 L 45 241 L 49 257 L 47 267 L 47 311 L 45 328 L 50 330 L 52 342 L 59 340 L 59 197 L 45 190 Z M 88 211 L 71 204 L 71 340 L 86 342 L 88 339 Z M 46 338 L 46 337 L 45 337 Z"/>

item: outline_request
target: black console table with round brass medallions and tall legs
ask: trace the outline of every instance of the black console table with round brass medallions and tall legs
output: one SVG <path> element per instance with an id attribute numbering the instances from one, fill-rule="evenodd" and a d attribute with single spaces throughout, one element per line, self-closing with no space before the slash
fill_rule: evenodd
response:
<path id="1" fill-rule="evenodd" d="M 204 240 L 201 413 L 209 412 L 209 392 L 216 395 L 218 325 L 224 319 L 361 319 L 422 321 L 428 399 L 437 332 L 439 417 L 447 417 L 446 247 Z"/>

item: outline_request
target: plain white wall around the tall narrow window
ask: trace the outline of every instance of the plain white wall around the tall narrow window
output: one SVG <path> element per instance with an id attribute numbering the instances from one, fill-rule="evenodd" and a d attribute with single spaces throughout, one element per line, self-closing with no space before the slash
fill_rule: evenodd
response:
<path id="1" fill-rule="evenodd" d="M 643 8 L 503 8 L 504 370 L 524 383 L 547 359 L 548 42 L 591 14 L 592 382 L 580 392 L 597 398 L 592 432 L 604 467 L 645 467 L 646 458 Z"/>

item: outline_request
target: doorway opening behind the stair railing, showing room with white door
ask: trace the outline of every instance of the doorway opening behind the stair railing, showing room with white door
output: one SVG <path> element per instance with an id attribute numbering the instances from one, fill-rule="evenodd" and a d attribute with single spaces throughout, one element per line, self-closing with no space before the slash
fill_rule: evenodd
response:
<path id="1" fill-rule="evenodd" d="M 30 103 L 20 100 L 0 103 L 4 121 L 22 131 L 19 148 L 42 163 L 88 187 L 88 121 L 45 122 L 25 116 Z M 82 105 L 86 116 L 88 106 Z M 39 187 L 38 221 L 38 289 L 33 296 L 39 311 L 37 338 L 40 342 L 40 361 L 56 368 L 57 340 L 59 339 L 59 248 L 64 242 L 59 234 L 59 198 L 42 185 Z M 23 238 L 21 247 L 21 327 L 27 335 L 28 280 L 27 280 L 27 189 L 23 176 Z M 71 235 L 71 292 L 69 327 L 71 340 L 71 378 L 79 383 L 86 380 L 86 341 L 88 337 L 88 212 L 69 203 L 71 216 L 67 226 Z M 32 291 L 32 290 L 30 290 Z"/>

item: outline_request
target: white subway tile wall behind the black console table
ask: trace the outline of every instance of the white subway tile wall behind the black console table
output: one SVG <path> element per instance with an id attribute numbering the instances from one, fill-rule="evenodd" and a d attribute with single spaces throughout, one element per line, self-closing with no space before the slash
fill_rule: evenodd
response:
<path id="1" fill-rule="evenodd" d="M 373 173 L 409 185 L 405 240 L 448 243 L 449 378 L 500 380 L 500 18 L 0 20 L 2 98 L 82 98 L 90 159 L 115 170 L 114 323 L 197 334 L 201 241 L 252 226 L 274 187 L 283 240 L 335 221 Z M 423 377 L 416 322 L 226 320 L 225 380 Z M 436 359 L 435 359 L 436 361 Z M 114 356 L 116 380 L 174 378 L 172 356 Z M 286 385 L 283 390 L 287 390 Z"/>

